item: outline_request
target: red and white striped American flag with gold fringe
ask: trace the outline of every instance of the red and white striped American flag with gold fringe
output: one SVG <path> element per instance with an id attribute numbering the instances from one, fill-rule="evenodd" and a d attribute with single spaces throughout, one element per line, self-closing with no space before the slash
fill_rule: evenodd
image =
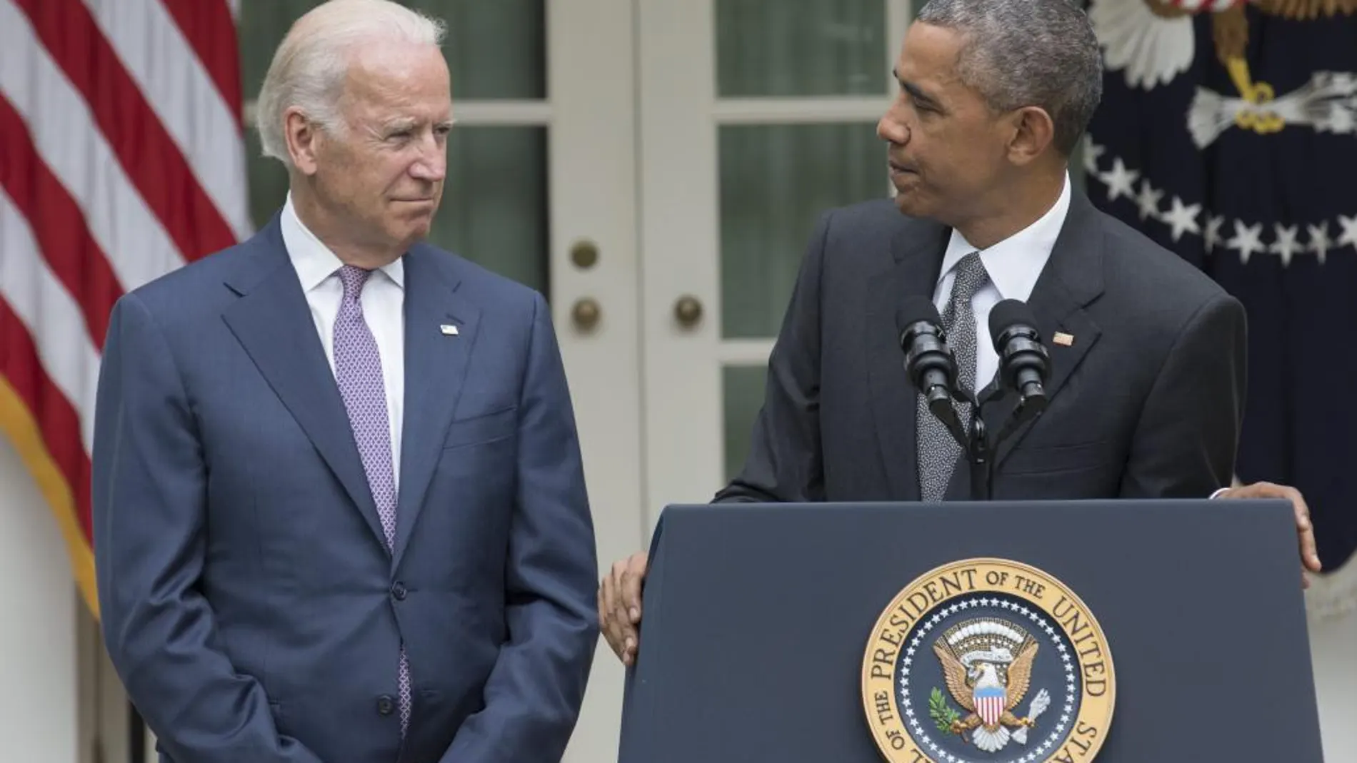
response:
<path id="1" fill-rule="evenodd" d="M 0 0 L 0 432 L 95 614 L 90 445 L 109 312 L 251 232 L 239 3 Z"/>

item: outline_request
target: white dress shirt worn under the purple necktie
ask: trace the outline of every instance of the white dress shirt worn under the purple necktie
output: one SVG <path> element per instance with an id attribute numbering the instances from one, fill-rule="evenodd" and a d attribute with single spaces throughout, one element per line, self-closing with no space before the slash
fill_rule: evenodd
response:
<path id="1" fill-rule="evenodd" d="M 282 206 L 282 243 L 288 248 L 292 267 L 301 281 L 301 290 L 311 306 L 311 317 L 316 323 L 320 344 L 330 360 L 330 373 L 335 370 L 335 318 L 339 316 L 339 302 L 343 301 L 343 283 L 338 271 L 343 263 L 320 243 L 320 239 L 307 229 L 292 206 L 292 194 Z M 406 394 L 406 346 L 404 346 L 404 266 L 396 260 L 384 266 L 370 276 L 362 287 L 360 298 L 362 317 L 377 340 L 377 354 L 381 356 L 381 379 L 387 388 L 387 420 L 391 424 L 391 470 L 400 487 L 400 428 Z"/>

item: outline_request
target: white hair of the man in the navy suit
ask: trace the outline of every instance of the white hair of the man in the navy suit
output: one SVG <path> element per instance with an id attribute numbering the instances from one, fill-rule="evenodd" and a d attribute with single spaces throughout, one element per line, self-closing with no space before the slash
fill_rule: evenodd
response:
<path id="1" fill-rule="evenodd" d="M 375 39 L 441 46 L 446 26 L 391 0 L 328 0 L 288 30 L 265 75 L 255 106 L 255 127 L 265 156 L 292 165 L 284 114 L 299 108 L 320 129 L 337 134 L 349 69 L 349 50 Z"/>

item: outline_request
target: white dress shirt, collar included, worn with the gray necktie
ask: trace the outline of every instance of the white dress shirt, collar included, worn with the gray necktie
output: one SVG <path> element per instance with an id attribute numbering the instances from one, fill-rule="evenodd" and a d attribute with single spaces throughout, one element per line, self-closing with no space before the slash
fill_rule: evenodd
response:
<path id="1" fill-rule="evenodd" d="M 976 291 L 970 306 L 976 313 L 976 389 L 980 392 L 995 378 L 999 370 L 999 354 L 989 340 L 989 310 L 1003 300 L 1019 300 L 1026 302 L 1031 298 L 1031 290 L 1037 285 L 1046 260 L 1050 259 L 1050 249 L 1056 245 L 1060 228 L 1065 224 L 1065 214 L 1069 211 L 1069 175 L 1065 173 L 1065 186 L 1060 191 L 1056 205 L 1046 210 L 1035 222 L 1023 228 L 1018 233 L 999 241 L 980 252 L 980 262 L 989 271 L 989 283 Z M 951 301 L 951 283 L 957 279 L 955 267 L 962 257 L 977 251 L 955 229 L 951 230 L 951 240 L 947 243 L 947 253 L 942 259 L 942 278 L 934 290 L 934 304 L 940 314 L 947 302 Z M 1049 336 L 1042 337 L 1049 342 Z"/>

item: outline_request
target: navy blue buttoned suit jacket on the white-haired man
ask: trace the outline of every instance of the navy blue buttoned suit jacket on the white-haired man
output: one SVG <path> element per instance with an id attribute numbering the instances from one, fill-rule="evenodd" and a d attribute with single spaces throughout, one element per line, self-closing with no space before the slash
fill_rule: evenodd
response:
<path id="1" fill-rule="evenodd" d="M 94 442 L 102 627 L 163 760 L 565 751 L 598 572 L 550 313 L 429 245 L 404 272 L 394 552 L 277 217 L 114 308 Z"/>

